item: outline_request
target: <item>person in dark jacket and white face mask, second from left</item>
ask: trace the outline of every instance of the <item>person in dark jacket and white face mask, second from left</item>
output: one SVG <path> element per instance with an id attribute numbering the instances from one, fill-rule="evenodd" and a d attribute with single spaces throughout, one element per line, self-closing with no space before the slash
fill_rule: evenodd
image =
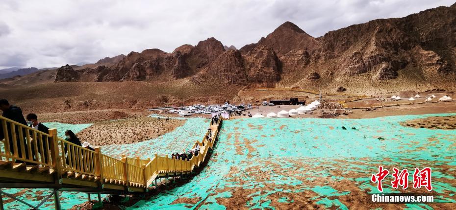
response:
<path id="1" fill-rule="evenodd" d="M 29 124 L 30 128 L 41 131 L 45 134 L 49 134 L 49 128 L 46 127 L 46 125 L 43 125 L 43 123 L 38 121 L 38 116 L 36 116 L 36 114 L 30 113 L 25 118 L 27 119 L 27 124 Z M 30 136 L 33 137 L 33 134 L 31 132 L 30 132 Z M 50 148 L 51 148 L 51 139 L 48 139 L 47 146 L 45 145 L 46 142 L 44 142 L 44 141 L 41 142 L 41 140 L 38 138 L 36 140 L 33 140 L 33 143 L 37 144 L 38 153 L 40 153 L 40 155 L 44 157 L 44 162 L 48 163 L 48 150 L 50 150 Z M 44 147 L 43 148 L 44 154 L 41 154 L 41 145 L 43 145 L 43 147 Z M 35 150 L 33 148 L 35 148 L 34 145 L 32 145 L 32 156 L 35 157 L 34 160 L 41 161 L 40 159 L 38 159 L 38 156 L 37 156 L 37 154 L 35 154 Z"/>

